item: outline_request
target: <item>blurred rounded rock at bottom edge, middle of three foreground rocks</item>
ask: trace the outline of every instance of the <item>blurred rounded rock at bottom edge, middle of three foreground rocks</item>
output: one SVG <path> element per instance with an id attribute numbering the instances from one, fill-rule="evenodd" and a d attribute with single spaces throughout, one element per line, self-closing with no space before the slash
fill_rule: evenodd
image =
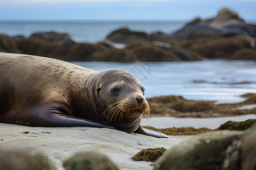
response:
<path id="1" fill-rule="evenodd" d="M 64 162 L 67 170 L 117 170 L 117 166 L 105 155 L 81 152 Z"/>

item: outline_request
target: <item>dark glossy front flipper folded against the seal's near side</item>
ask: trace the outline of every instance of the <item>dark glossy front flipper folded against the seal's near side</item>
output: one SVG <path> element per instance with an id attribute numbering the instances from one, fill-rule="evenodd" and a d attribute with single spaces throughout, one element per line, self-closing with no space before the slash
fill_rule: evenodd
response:
<path id="1" fill-rule="evenodd" d="M 83 118 L 75 117 L 64 105 L 58 103 L 48 103 L 35 105 L 23 114 L 22 122 L 28 126 L 43 127 L 73 127 L 86 126 L 94 128 L 110 128 L 114 127 L 110 124 L 102 124 Z"/>

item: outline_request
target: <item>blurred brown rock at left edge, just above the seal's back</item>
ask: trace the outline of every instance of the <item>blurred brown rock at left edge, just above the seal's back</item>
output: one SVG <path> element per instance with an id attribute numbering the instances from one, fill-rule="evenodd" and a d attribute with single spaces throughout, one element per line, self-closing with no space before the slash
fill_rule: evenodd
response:
<path id="1" fill-rule="evenodd" d="M 20 53 L 11 37 L 0 35 L 0 52 Z"/>

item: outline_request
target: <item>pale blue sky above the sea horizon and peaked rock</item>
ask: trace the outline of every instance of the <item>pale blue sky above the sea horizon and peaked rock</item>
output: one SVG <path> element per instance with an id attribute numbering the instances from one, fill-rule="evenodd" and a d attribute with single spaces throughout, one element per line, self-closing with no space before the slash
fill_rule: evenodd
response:
<path id="1" fill-rule="evenodd" d="M 0 20 L 191 20 L 224 7 L 256 21 L 256 0 L 0 0 Z"/>

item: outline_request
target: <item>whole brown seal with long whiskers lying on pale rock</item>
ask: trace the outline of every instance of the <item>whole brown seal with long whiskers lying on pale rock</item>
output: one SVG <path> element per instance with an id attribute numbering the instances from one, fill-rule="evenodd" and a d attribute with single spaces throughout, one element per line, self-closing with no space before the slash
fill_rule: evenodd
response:
<path id="1" fill-rule="evenodd" d="M 119 69 L 93 71 L 57 59 L 0 53 L 0 122 L 111 128 L 168 138 L 141 126 L 144 87 Z"/>

